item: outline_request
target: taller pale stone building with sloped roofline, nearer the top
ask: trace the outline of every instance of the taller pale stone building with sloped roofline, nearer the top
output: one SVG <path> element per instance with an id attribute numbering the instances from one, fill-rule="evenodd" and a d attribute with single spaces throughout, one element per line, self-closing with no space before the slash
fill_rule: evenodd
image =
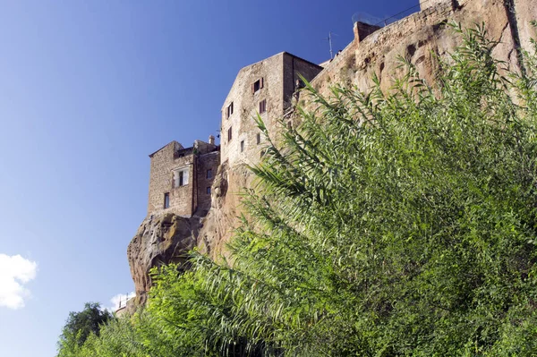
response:
<path id="1" fill-rule="evenodd" d="M 243 67 L 222 106 L 222 163 L 254 164 L 262 154 L 263 135 L 254 117 L 260 115 L 268 132 L 286 116 L 302 75 L 311 81 L 322 67 L 286 52 Z"/>

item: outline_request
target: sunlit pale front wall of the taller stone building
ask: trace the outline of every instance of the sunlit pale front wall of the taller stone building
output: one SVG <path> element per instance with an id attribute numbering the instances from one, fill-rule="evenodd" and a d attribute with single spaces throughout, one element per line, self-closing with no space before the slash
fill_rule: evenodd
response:
<path id="1" fill-rule="evenodd" d="M 233 87 L 222 106 L 222 124 L 220 146 L 222 162 L 228 164 L 252 164 L 259 161 L 263 144 L 258 144 L 260 130 L 254 117 L 260 111 L 260 102 L 266 100 L 266 112 L 261 118 L 272 128 L 272 120 L 282 117 L 283 106 L 283 54 L 273 55 L 257 64 L 244 67 L 235 78 Z M 261 81 L 262 88 L 252 91 L 256 81 Z M 227 115 L 228 106 L 233 103 L 233 114 Z M 231 140 L 229 130 L 231 128 Z M 242 142 L 242 144 L 241 144 Z"/>

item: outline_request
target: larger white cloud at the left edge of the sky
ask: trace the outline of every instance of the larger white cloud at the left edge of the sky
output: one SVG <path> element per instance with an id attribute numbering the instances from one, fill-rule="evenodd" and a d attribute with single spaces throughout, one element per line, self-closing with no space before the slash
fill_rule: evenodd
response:
<path id="1" fill-rule="evenodd" d="M 38 263 L 0 253 L 0 307 L 21 309 L 30 291 L 23 285 L 36 277 Z"/>

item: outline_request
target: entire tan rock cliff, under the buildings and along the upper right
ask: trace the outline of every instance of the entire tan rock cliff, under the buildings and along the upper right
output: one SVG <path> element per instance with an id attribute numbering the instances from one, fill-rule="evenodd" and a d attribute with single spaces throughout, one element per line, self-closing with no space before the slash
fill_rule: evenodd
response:
<path id="1" fill-rule="evenodd" d="M 524 71 L 519 62 L 521 49 L 530 49 L 530 38 L 537 33 L 530 21 L 537 19 L 535 0 L 442 0 L 420 13 L 375 31 L 366 38 L 355 38 L 311 82 L 322 94 L 334 83 L 354 85 L 366 90 L 376 74 L 384 90 L 394 78 L 401 77 L 398 56 L 415 65 L 426 81 L 433 83 L 439 58 L 447 58 L 460 42 L 447 22 L 456 21 L 466 28 L 485 23 L 488 36 L 497 41 L 494 55 L 516 71 Z M 301 105 L 312 108 L 307 97 Z M 149 269 L 169 262 L 182 262 L 185 252 L 199 247 L 213 259 L 225 254 L 225 244 L 233 234 L 241 213 L 243 188 L 251 187 L 253 177 L 244 166 L 221 163 L 212 186 L 211 208 L 206 217 L 191 218 L 163 214 L 146 218 L 129 244 L 131 266 L 138 302 L 145 302 L 151 286 Z"/>

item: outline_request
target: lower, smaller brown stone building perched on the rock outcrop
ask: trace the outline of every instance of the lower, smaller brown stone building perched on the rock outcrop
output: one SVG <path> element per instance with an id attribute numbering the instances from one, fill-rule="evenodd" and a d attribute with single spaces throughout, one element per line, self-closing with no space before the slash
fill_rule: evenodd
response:
<path id="1" fill-rule="evenodd" d="M 170 212 L 182 217 L 205 216 L 211 185 L 220 164 L 214 136 L 183 148 L 172 141 L 151 155 L 148 216 Z"/>

